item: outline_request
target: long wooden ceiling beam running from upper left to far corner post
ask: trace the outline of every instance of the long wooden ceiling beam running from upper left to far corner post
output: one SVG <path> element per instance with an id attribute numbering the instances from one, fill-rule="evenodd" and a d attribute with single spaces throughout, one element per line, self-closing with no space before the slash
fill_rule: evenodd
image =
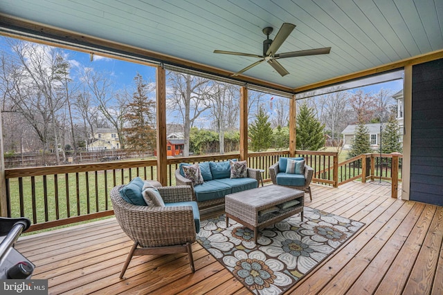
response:
<path id="1" fill-rule="evenodd" d="M 225 77 L 227 79 L 237 80 L 239 82 L 244 82 L 245 84 L 249 83 L 257 86 L 263 86 L 265 88 L 283 91 L 285 93 L 293 93 L 292 88 L 285 87 L 280 84 L 274 84 L 244 75 L 231 77 L 231 75 L 233 75 L 233 72 L 222 70 L 220 68 L 207 66 L 205 64 L 199 64 L 194 61 L 189 61 L 170 55 L 163 55 L 162 53 L 156 53 L 154 51 L 138 48 L 136 46 L 129 46 L 127 44 L 121 44 L 107 39 L 93 37 L 90 35 L 83 35 L 71 30 L 64 30 L 61 28 L 56 28 L 54 26 L 48 26 L 44 23 L 28 21 L 19 17 L 11 17 L 10 15 L 2 13 L 0 13 L 0 27 L 11 29 L 10 31 L 0 31 L 0 35 L 5 35 L 7 37 L 24 39 L 26 41 L 33 41 L 70 50 L 77 50 L 84 53 L 91 53 L 91 49 L 87 49 L 87 47 L 96 49 L 101 48 L 102 50 L 108 50 L 110 52 L 114 51 L 116 53 L 127 53 L 127 55 L 135 55 L 138 57 L 144 57 L 147 60 L 151 60 L 152 64 L 150 64 L 149 61 L 145 61 L 144 63 L 143 61 L 138 61 L 149 66 L 156 66 L 157 64 L 181 66 L 183 68 L 189 68 L 191 70 L 197 70 L 203 73 Z M 12 30 L 15 30 L 16 32 L 13 32 Z M 60 41 L 60 43 L 57 43 L 57 41 Z M 112 55 L 111 53 L 107 54 L 100 52 L 100 55 L 134 62 L 134 59 L 131 59 L 130 57 L 125 58 L 118 55 Z"/>

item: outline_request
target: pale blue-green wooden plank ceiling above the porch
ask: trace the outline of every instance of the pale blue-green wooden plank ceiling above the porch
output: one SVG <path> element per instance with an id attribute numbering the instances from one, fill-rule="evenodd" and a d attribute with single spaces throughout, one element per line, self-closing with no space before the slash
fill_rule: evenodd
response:
<path id="1" fill-rule="evenodd" d="M 232 73 L 257 61 L 213 50 L 262 54 L 262 28 L 296 29 L 278 53 L 332 47 L 329 55 L 262 63 L 244 75 L 289 88 L 443 49 L 442 0 L 2 0 L 3 16 L 100 37 Z"/>

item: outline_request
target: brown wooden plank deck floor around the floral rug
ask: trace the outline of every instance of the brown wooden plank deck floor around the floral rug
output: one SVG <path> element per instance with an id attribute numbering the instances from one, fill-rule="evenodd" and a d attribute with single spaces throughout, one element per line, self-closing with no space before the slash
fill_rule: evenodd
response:
<path id="1" fill-rule="evenodd" d="M 383 184 L 383 182 L 382 182 Z M 286 294 L 443 294 L 443 207 L 390 198 L 390 186 L 312 186 L 305 205 L 365 226 Z M 114 218 L 20 238 L 50 294 L 248 294 L 198 243 L 185 255 L 136 256 Z"/>

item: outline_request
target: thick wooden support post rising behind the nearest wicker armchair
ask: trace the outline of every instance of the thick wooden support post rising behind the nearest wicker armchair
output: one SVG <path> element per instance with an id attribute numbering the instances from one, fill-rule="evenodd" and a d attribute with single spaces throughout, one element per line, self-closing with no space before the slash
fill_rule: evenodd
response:
<path id="1" fill-rule="evenodd" d="M 156 69 L 157 101 L 157 181 L 168 185 L 168 156 L 166 155 L 166 73 L 165 69 Z"/>

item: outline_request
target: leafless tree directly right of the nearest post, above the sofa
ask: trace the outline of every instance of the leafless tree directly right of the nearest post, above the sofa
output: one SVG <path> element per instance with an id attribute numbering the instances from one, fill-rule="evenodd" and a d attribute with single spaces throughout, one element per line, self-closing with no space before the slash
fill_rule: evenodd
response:
<path id="1" fill-rule="evenodd" d="M 190 129 L 197 118 L 210 108 L 214 83 L 210 79 L 172 71 L 168 72 L 168 81 L 171 87 L 168 108 L 183 120 L 183 155 L 186 157 L 189 155 Z"/>

